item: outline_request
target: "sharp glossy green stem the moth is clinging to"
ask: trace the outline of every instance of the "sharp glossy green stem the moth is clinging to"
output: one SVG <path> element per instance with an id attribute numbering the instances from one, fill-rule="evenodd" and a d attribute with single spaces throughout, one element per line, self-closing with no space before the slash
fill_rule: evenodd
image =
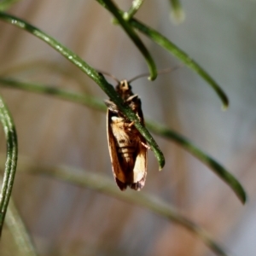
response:
<path id="1" fill-rule="evenodd" d="M 36 36 L 37 38 L 42 39 L 45 43 L 49 44 L 53 49 L 57 50 L 61 55 L 67 58 L 68 61 L 71 61 L 75 66 L 79 67 L 79 69 L 86 73 L 90 79 L 93 79 L 96 84 L 98 84 L 109 96 L 109 98 L 118 106 L 119 110 L 124 113 L 128 119 L 134 121 L 137 130 L 143 135 L 143 137 L 145 137 L 148 145 L 154 151 L 154 155 L 158 160 L 160 170 L 165 166 L 164 154 L 154 141 L 154 138 L 144 127 L 144 125 L 141 124 L 140 120 L 137 118 L 137 115 L 124 103 L 121 97 L 113 89 L 113 86 L 108 84 L 107 80 L 104 79 L 102 75 L 97 73 L 94 68 L 90 67 L 90 65 L 83 61 L 79 55 L 74 54 L 73 51 L 67 49 L 67 47 L 57 42 L 54 38 L 49 37 L 49 35 L 47 35 L 45 32 L 42 32 L 37 27 L 30 25 L 25 20 L 21 20 L 13 15 L 8 15 L 3 12 L 0 12 L 0 19 L 8 22 L 11 25 L 19 27 L 26 32 L 32 33 L 32 35 Z"/>

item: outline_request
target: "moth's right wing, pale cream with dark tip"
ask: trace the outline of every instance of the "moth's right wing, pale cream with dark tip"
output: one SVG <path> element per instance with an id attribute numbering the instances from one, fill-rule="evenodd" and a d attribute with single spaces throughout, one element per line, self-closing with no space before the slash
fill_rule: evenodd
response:
<path id="1" fill-rule="evenodd" d="M 143 142 L 143 143 L 142 143 Z M 138 145 L 137 158 L 133 168 L 133 181 L 131 189 L 143 189 L 147 176 L 148 148 L 145 147 L 146 140 L 141 137 Z M 143 145 L 144 144 L 144 145 Z"/>

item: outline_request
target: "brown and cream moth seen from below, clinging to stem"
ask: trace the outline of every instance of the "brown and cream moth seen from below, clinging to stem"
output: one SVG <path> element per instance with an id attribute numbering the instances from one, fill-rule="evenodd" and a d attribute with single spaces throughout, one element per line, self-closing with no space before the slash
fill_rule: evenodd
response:
<path id="1" fill-rule="evenodd" d="M 142 102 L 133 94 L 131 84 L 127 80 L 119 81 L 115 89 L 144 125 Z M 108 149 L 113 177 L 121 190 L 127 187 L 143 189 L 147 176 L 147 142 L 134 122 L 127 119 L 111 100 L 104 102 L 108 107 Z"/>

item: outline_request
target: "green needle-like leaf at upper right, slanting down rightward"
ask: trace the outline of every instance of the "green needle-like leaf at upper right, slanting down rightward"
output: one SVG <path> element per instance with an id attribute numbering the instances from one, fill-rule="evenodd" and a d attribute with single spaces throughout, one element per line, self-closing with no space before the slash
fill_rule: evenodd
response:
<path id="1" fill-rule="evenodd" d="M 202 79 L 205 79 L 207 83 L 212 86 L 212 89 L 216 91 L 217 95 L 223 102 L 223 108 L 228 108 L 229 100 L 224 91 L 212 79 L 212 77 L 199 66 L 199 64 L 189 57 L 189 55 L 187 55 L 182 49 L 179 49 L 177 45 L 173 44 L 169 39 L 161 35 L 160 32 L 155 31 L 153 28 L 145 26 L 142 22 L 135 19 L 131 19 L 129 22 L 132 26 L 137 28 L 137 30 L 143 32 L 143 34 L 145 34 L 148 38 L 151 38 L 156 44 L 159 44 L 164 49 L 167 49 L 170 53 L 172 53 L 172 55 L 176 56 L 180 61 L 183 61 L 183 63 L 198 73 Z"/>

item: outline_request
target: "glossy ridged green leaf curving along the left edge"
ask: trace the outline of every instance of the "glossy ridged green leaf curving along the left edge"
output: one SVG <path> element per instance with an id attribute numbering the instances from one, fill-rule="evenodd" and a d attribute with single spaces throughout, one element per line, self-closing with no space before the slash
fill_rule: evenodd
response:
<path id="1" fill-rule="evenodd" d="M 7 143 L 7 158 L 3 174 L 3 183 L 0 194 L 0 236 L 3 230 L 3 221 L 6 215 L 9 198 L 15 181 L 17 166 L 18 143 L 15 131 L 15 124 L 9 110 L 0 96 L 0 121 L 3 125 L 4 135 Z"/>

